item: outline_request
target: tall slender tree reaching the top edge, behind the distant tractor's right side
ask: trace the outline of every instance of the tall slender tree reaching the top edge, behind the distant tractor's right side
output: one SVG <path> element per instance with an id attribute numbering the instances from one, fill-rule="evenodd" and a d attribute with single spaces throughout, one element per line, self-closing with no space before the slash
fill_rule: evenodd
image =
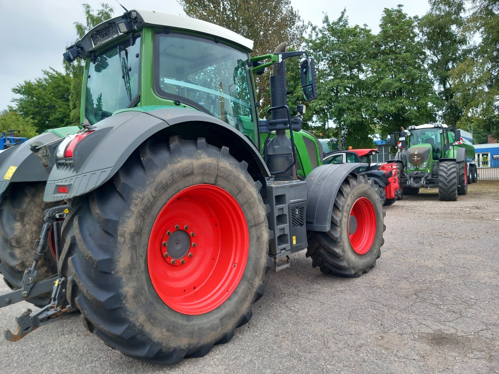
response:
<path id="1" fill-rule="evenodd" d="M 438 85 L 442 122 L 456 126 L 463 107 L 454 98 L 450 72 L 470 52 L 467 35 L 461 32 L 464 0 L 430 0 L 430 10 L 419 21 L 423 44 L 429 53 L 428 68 Z"/>

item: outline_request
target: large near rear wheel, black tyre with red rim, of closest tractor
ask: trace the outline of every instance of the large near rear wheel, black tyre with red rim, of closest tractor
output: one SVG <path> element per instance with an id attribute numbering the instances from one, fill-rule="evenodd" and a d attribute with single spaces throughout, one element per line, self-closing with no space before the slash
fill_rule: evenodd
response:
<path id="1" fill-rule="evenodd" d="M 151 139 L 77 201 L 62 271 L 90 331 L 161 364 L 231 340 L 263 295 L 268 258 L 261 184 L 247 168 L 201 138 Z"/>

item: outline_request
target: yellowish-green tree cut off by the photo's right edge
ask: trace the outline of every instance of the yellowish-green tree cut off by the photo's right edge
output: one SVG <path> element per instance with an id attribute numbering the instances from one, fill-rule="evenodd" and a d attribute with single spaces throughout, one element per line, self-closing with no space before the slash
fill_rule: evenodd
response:
<path id="1" fill-rule="evenodd" d="M 499 136 L 499 1 L 472 0 L 465 31 L 480 37 L 472 54 L 451 71 L 457 102 L 464 107 L 459 121 Z"/>

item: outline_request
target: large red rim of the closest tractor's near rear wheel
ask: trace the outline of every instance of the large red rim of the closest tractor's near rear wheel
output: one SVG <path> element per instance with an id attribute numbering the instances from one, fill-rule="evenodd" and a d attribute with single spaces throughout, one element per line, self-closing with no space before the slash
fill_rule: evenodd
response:
<path id="1" fill-rule="evenodd" d="M 173 310 L 208 313 L 236 290 L 249 246 L 245 214 L 229 192 L 213 185 L 187 187 L 165 204 L 153 224 L 149 277 Z"/>

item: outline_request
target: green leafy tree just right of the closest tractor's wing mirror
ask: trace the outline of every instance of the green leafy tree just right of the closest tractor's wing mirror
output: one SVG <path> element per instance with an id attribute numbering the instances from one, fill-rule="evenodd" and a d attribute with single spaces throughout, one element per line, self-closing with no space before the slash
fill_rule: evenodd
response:
<path id="1" fill-rule="evenodd" d="M 312 106 L 314 119 L 324 136 L 337 138 L 340 147 L 343 139 L 356 148 L 372 145 L 373 102 L 367 82 L 372 39 L 368 28 L 349 26 L 343 10 L 334 21 L 326 15 L 305 41 L 316 60 L 320 92 Z M 328 128 L 331 122 L 334 131 Z"/>

